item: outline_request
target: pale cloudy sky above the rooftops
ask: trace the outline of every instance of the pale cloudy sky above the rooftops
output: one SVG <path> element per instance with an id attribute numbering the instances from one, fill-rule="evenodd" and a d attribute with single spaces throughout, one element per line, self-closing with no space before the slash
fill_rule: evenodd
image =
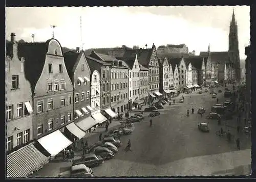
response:
<path id="1" fill-rule="evenodd" d="M 249 6 L 15 7 L 6 8 L 6 39 L 46 42 L 83 49 L 156 47 L 185 43 L 189 51 L 227 51 L 232 11 L 238 24 L 240 57 L 250 40 Z M 80 23 L 81 17 L 81 23 Z M 80 28 L 81 24 L 81 28 Z"/>

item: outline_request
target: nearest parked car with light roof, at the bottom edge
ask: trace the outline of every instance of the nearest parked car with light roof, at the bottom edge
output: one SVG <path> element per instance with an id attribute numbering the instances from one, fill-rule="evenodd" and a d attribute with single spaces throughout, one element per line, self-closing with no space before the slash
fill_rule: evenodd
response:
<path id="1" fill-rule="evenodd" d="M 84 164 L 60 168 L 59 177 L 92 177 L 93 171 Z"/>

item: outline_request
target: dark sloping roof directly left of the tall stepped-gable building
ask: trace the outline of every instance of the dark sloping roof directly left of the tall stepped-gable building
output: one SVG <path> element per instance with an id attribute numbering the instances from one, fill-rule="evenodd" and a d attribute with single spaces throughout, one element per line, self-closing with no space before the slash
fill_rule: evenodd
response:
<path id="1" fill-rule="evenodd" d="M 125 50 L 125 53 L 123 57 L 130 57 L 130 58 L 135 58 L 137 54 L 137 59 L 138 62 L 147 67 L 148 63 L 150 62 L 150 58 L 152 55 L 152 48 L 147 48 L 147 49 L 127 49 Z"/>

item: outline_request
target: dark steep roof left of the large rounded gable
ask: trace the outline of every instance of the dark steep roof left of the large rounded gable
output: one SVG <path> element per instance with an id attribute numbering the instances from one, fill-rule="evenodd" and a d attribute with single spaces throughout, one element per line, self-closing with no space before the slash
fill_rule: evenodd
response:
<path id="1" fill-rule="evenodd" d="M 31 84 L 32 93 L 34 93 L 35 85 L 44 68 L 50 40 L 46 42 L 18 43 L 18 57 L 25 58 L 25 75 Z"/>

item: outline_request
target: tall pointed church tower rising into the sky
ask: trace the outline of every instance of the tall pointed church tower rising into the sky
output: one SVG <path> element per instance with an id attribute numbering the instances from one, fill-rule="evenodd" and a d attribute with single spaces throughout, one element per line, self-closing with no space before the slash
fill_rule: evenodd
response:
<path id="1" fill-rule="evenodd" d="M 239 56 L 239 44 L 238 44 L 238 25 L 236 18 L 234 17 L 234 10 L 232 14 L 232 19 L 229 26 L 229 41 L 228 41 L 228 53 L 230 58 L 230 71 L 232 75 L 232 80 L 240 81 L 241 71 L 240 71 L 240 56 Z"/>

